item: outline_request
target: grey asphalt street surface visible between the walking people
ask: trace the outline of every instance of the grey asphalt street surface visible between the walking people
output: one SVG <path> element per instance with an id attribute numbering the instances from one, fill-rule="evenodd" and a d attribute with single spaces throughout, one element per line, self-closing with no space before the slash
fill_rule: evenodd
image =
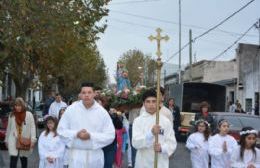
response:
<path id="1" fill-rule="evenodd" d="M 1 153 L 4 157 L 5 166 L 1 168 L 8 168 L 9 167 L 9 156 L 7 151 L 2 151 Z M 38 151 L 37 148 L 35 148 L 33 154 L 28 159 L 28 168 L 37 168 L 39 164 L 39 157 L 38 157 Z M 20 161 L 18 162 L 18 168 L 20 168 Z M 178 143 L 177 151 L 170 159 L 170 168 L 190 168 L 191 162 L 190 162 L 190 156 L 189 152 L 185 148 L 184 143 Z M 124 166 L 125 168 L 125 166 Z"/>

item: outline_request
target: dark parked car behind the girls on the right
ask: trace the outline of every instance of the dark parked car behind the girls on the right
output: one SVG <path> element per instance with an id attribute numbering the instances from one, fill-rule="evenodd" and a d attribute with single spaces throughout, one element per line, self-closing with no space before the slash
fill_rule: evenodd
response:
<path id="1" fill-rule="evenodd" d="M 253 127 L 258 130 L 257 147 L 260 148 L 260 117 L 255 115 L 248 115 L 243 113 L 228 113 L 228 112 L 214 112 L 213 116 L 212 132 L 217 132 L 217 123 L 221 119 L 226 119 L 230 123 L 229 134 L 233 136 L 237 141 L 240 139 L 239 132 L 243 127 Z"/>

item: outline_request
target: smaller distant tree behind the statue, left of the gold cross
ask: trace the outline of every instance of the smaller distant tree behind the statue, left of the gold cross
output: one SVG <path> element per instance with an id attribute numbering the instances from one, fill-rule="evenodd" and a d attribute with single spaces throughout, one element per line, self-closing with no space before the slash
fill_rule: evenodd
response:
<path id="1" fill-rule="evenodd" d="M 142 77 L 148 87 L 153 86 L 156 82 L 154 80 L 156 62 L 151 59 L 151 56 L 145 55 L 142 51 L 137 49 L 129 50 L 119 58 L 119 62 L 122 62 L 128 70 L 129 80 L 133 87 L 138 83 L 142 83 Z"/>

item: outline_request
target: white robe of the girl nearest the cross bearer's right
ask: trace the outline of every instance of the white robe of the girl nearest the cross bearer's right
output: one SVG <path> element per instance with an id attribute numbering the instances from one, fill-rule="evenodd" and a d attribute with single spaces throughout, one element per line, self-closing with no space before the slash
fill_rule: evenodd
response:
<path id="1" fill-rule="evenodd" d="M 209 153 L 208 141 L 205 141 L 204 135 L 200 132 L 191 134 L 186 142 L 186 147 L 191 151 L 192 168 L 208 168 Z"/>

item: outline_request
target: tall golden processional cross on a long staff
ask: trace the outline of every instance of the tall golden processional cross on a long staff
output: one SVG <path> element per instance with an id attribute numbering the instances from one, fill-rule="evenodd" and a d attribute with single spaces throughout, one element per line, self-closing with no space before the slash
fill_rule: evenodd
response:
<path id="1" fill-rule="evenodd" d="M 156 29 L 157 36 L 149 36 L 149 40 L 153 41 L 156 40 L 157 42 L 157 52 L 156 55 L 158 56 L 156 65 L 157 65 L 157 102 L 156 102 L 156 125 L 159 125 L 159 111 L 160 111 L 160 103 L 161 103 L 161 92 L 160 92 L 160 79 L 161 79 L 161 69 L 162 69 L 162 61 L 161 61 L 161 41 L 169 40 L 169 36 L 161 36 L 162 29 L 157 28 Z M 158 135 L 155 136 L 155 143 L 158 144 Z M 158 165 L 158 153 L 155 152 L 154 155 L 154 168 L 157 168 Z"/>

